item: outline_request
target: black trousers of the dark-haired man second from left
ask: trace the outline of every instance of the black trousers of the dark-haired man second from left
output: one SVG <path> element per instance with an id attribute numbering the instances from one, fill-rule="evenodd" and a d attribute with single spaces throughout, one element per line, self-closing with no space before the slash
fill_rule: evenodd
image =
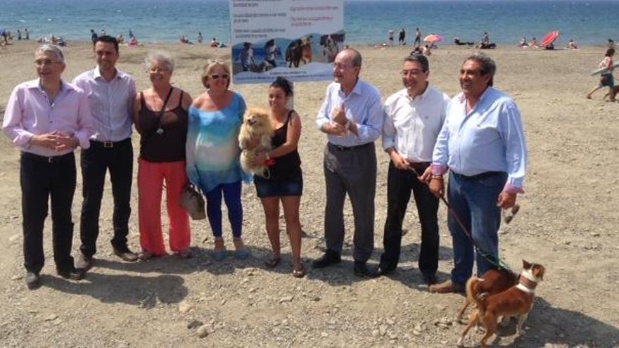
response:
<path id="1" fill-rule="evenodd" d="M 90 148 L 82 150 L 81 165 L 84 181 L 82 197 L 84 200 L 79 221 L 79 237 L 82 240 L 79 250 L 87 257 L 92 257 L 96 253 L 101 198 L 103 198 L 103 186 L 108 169 L 114 198 L 112 246 L 118 250 L 127 250 L 133 181 L 131 138 L 114 143 L 91 141 L 90 144 Z"/>

